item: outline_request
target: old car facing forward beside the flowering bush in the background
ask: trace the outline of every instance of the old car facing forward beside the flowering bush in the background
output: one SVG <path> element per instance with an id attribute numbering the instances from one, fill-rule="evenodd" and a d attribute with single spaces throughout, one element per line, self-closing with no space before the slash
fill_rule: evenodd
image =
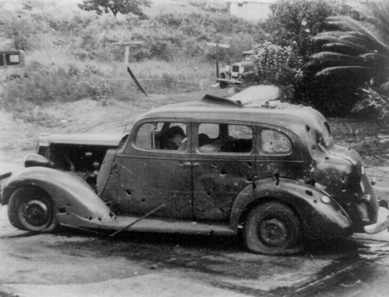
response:
<path id="1" fill-rule="evenodd" d="M 254 61 L 251 59 L 253 54 L 253 50 L 243 52 L 243 61 L 235 62 L 231 66 L 226 65 L 222 68 L 219 72 L 219 77 L 216 79 L 221 89 L 228 86 L 241 86 L 243 84 L 245 75 L 254 70 Z"/>

